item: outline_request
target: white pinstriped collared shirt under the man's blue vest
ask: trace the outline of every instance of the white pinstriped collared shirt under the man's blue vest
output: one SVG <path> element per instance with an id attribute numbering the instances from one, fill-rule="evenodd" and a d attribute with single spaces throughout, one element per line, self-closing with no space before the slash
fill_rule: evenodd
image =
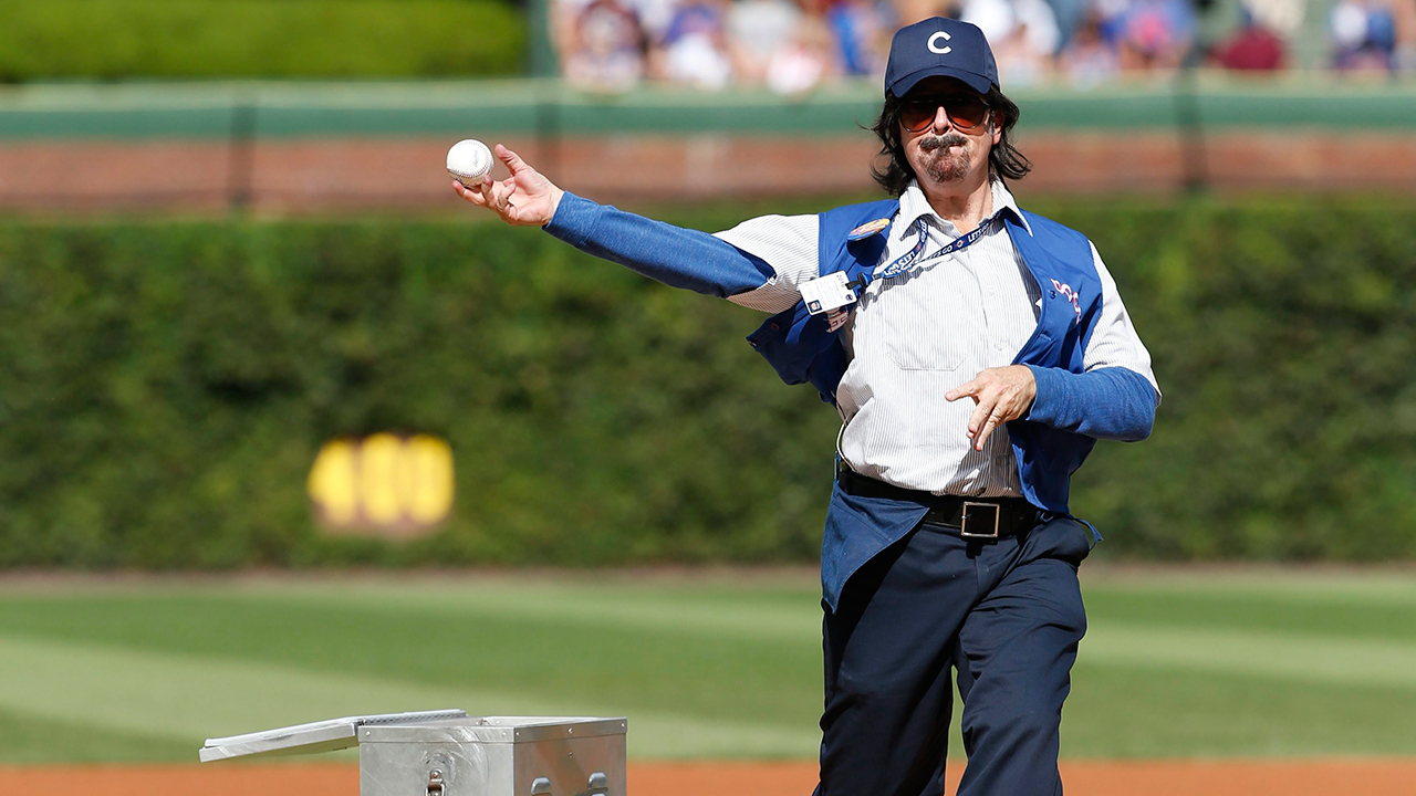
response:
<path id="1" fill-rule="evenodd" d="M 835 392 L 844 422 L 840 452 L 857 473 L 936 494 L 1022 494 L 1007 428 L 997 428 L 984 449 L 974 450 L 967 436 L 974 402 L 944 401 L 946 392 L 984 368 L 1012 364 L 1038 323 L 1042 293 L 997 220 L 1004 207 L 1018 210 L 1012 194 L 994 180 L 995 221 L 986 234 L 930 259 L 959 229 L 933 211 L 918 184 L 901 195 L 877 271 L 915 246 L 919 218 L 929 231 L 923 263 L 871 282 L 843 331 L 851 363 Z M 818 276 L 817 229 L 816 215 L 766 215 L 718 232 L 776 272 L 766 285 L 729 300 L 769 313 L 794 306 L 797 285 Z M 1083 367 L 1126 367 L 1154 387 L 1150 353 L 1095 246 L 1092 256 L 1103 305 Z"/>

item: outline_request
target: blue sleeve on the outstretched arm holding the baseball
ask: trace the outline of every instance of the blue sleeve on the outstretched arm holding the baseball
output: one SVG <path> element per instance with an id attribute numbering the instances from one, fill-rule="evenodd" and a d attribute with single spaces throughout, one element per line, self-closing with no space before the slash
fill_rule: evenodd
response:
<path id="1" fill-rule="evenodd" d="M 707 232 L 600 205 L 569 191 L 545 231 L 582 252 L 708 296 L 746 293 L 776 275 L 765 261 Z"/>

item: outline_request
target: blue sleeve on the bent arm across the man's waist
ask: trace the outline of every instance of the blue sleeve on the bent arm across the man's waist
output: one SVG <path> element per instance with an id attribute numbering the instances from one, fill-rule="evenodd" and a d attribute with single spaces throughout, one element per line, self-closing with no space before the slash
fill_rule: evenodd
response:
<path id="1" fill-rule="evenodd" d="M 1024 418 L 1096 439 L 1136 442 L 1155 422 L 1155 388 L 1129 368 L 1070 373 L 1028 365 L 1038 395 Z"/>

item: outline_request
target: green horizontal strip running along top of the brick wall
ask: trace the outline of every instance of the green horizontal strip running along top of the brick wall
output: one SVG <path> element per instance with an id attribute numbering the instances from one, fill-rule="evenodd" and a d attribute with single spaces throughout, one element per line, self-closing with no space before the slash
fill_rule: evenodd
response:
<path id="1" fill-rule="evenodd" d="M 1416 84 L 1337 84 L 1209 76 L 1120 84 L 1104 91 L 1010 91 L 1021 130 L 1205 129 L 1416 130 Z M 858 132 L 879 110 L 879 86 L 852 82 L 806 98 L 646 88 L 588 95 L 555 81 L 379 84 L 47 85 L 0 91 L 0 140 L 44 137 L 415 136 L 484 133 Z M 251 115 L 241 120 L 241 115 Z"/>

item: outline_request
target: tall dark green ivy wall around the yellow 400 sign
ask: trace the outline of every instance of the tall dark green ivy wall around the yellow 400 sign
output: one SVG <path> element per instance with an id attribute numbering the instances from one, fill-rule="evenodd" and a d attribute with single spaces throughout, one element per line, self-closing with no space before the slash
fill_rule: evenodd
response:
<path id="1" fill-rule="evenodd" d="M 1038 210 L 1165 391 L 1075 479 L 1099 554 L 1416 554 L 1416 207 Z M 0 222 L 0 567 L 811 561 L 837 421 L 759 320 L 494 224 Z M 440 533 L 314 525 L 320 445 L 378 431 L 452 443 Z"/>

